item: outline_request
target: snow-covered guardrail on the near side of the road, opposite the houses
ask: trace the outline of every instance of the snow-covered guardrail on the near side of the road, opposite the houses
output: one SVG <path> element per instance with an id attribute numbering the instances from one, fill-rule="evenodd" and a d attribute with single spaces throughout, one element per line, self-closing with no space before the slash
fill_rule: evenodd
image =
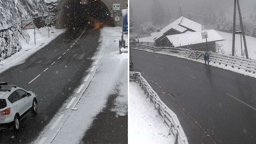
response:
<path id="1" fill-rule="evenodd" d="M 136 81 L 144 94 L 147 95 L 150 102 L 154 105 L 158 114 L 163 118 L 164 123 L 169 128 L 169 135 L 173 134 L 176 138 L 176 143 L 178 144 L 188 144 L 187 137 L 180 125 L 180 121 L 176 114 L 165 105 L 165 103 L 160 99 L 157 93 L 152 89 L 148 82 L 141 76 L 140 72 L 130 72 L 130 81 Z"/>

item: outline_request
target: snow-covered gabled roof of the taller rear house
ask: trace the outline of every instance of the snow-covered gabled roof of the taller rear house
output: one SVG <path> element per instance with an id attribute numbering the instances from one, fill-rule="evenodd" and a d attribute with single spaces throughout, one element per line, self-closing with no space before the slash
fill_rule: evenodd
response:
<path id="1" fill-rule="evenodd" d="M 182 17 L 176 19 L 174 22 L 167 25 L 165 28 L 163 28 L 161 30 L 161 32 L 159 32 L 158 36 L 156 36 L 155 39 L 157 40 L 158 38 L 163 37 L 164 34 L 171 29 L 174 29 L 180 33 L 183 33 L 188 29 L 197 32 L 197 31 L 202 31 L 202 25 L 200 23 L 191 21 L 190 19 L 187 19 L 186 17 L 182 16 Z"/>

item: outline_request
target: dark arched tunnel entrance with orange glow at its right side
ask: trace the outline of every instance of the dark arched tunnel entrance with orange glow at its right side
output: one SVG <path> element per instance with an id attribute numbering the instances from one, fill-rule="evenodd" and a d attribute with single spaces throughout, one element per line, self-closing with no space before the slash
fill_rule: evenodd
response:
<path id="1" fill-rule="evenodd" d="M 115 26 L 113 19 L 107 15 L 109 10 L 101 0 L 62 0 L 57 6 L 56 28 L 94 28 Z"/>

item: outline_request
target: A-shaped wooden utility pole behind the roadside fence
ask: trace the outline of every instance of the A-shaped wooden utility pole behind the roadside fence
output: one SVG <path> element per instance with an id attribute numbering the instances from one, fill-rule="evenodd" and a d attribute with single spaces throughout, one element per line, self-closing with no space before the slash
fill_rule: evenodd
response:
<path id="1" fill-rule="evenodd" d="M 236 31 L 236 4 L 237 4 L 237 8 L 238 8 L 238 13 L 239 13 L 241 31 Z M 239 0 L 234 0 L 234 21 L 233 21 L 233 40 L 232 40 L 232 55 L 233 56 L 234 56 L 234 47 L 235 47 L 235 36 L 236 36 L 236 34 L 241 34 L 241 33 L 243 35 L 243 43 L 245 45 L 245 55 L 246 55 L 246 58 L 249 59 L 246 40 L 245 40 L 245 32 L 244 32 L 244 28 L 243 28 L 243 20 L 242 20 L 242 16 L 241 16 L 240 5 L 239 5 Z"/>

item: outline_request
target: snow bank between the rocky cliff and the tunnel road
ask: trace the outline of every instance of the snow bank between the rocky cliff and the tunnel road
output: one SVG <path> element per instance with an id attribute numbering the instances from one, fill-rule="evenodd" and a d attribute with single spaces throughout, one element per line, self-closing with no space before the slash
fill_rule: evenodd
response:
<path id="1" fill-rule="evenodd" d="M 36 29 L 36 44 L 34 42 L 34 30 L 25 31 L 29 35 L 30 41 L 26 42 L 24 38 L 20 37 L 22 49 L 11 57 L 0 61 L 0 72 L 3 72 L 4 70 L 7 70 L 15 65 L 24 63 L 24 61 L 30 55 L 37 52 L 39 49 L 43 48 L 45 45 L 54 40 L 54 38 L 65 32 L 65 29 L 57 30 L 54 27 L 49 27 L 50 38 L 48 38 L 48 27 Z"/>

